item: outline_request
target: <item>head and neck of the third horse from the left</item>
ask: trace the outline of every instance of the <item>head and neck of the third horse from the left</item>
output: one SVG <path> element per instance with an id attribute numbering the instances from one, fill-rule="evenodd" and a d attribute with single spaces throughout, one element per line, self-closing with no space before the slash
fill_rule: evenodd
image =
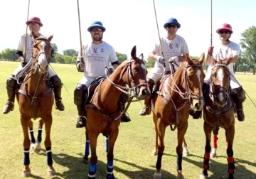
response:
<path id="1" fill-rule="evenodd" d="M 188 99 L 191 104 L 191 109 L 198 111 L 203 109 L 203 72 L 204 53 L 199 60 L 190 59 L 185 55 L 186 62 L 178 68 L 174 74 L 174 82 L 180 86 L 185 92 L 181 95 L 183 99 Z"/>

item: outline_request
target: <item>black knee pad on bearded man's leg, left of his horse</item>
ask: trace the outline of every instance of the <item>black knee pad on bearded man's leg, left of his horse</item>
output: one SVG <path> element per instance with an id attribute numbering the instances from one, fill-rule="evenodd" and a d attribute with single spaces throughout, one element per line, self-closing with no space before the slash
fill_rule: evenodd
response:
<path id="1" fill-rule="evenodd" d="M 77 87 L 74 91 L 74 103 L 75 105 L 82 105 L 85 103 L 85 99 L 87 99 L 87 87 L 78 83 Z"/>

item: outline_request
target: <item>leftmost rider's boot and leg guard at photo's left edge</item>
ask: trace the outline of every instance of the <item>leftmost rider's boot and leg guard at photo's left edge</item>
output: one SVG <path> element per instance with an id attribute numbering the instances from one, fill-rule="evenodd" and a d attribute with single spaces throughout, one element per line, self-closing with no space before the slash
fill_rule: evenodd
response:
<path id="1" fill-rule="evenodd" d="M 15 99 L 16 85 L 17 85 L 16 80 L 14 80 L 11 77 L 9 77 L 7 79 L 6 89 L 7 89 L 8 99 L 7 99 L 6 105 L 4 106 L 3 114 L 8 114 L 9 112 L 14 110 L 14 99 Z"/>

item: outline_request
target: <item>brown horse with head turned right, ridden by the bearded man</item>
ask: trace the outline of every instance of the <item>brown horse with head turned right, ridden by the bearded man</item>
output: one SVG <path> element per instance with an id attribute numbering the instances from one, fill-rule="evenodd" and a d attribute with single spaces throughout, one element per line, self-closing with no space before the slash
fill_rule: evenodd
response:
<path id="1" fill-rule="evenodd" d="M 124 114 L 118 106 L 118 99 L 122 92 L 129 95 L 129 102 L 131 102 L 132 97 L 142 100 L 150 94 L 146 83 L 147 71 L 143 55 L 139 55 L 137 58 L 136 46 L 134 46 L 131 56 L 130 60 L 125 60 L 110 77 L 107 77 L 97 86 L 90 103 L 86 106 L 86 136 L 89 138 L 91 151 L 88 178 L 95 178 L 96 175 L 96 146 L 97 137 L 100 133 L 108 136 L 107 178 L 114 178 L 114 143 L 117 140 L 120 119 Z"/>

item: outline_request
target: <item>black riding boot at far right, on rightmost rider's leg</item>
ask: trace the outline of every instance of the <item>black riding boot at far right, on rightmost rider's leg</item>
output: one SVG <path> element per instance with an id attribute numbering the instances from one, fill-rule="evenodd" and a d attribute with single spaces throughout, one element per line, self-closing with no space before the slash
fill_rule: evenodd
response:
<path id="1" fill-rule="evenodd" d="M 245 121 L 245 114 L 242 109 L 242 102 L 245 102 L 245 90 L 241 87 L 233 89 L 233 100 L 235 102 L 235 111 L 238 121 Z"/>

